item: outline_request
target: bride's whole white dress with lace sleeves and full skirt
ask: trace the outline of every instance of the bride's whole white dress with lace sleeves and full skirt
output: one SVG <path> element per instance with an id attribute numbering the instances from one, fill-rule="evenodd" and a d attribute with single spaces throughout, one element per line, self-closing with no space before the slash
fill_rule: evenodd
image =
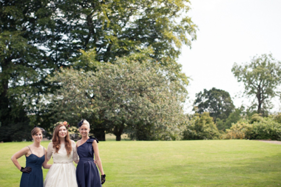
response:
<path id="1" fill-rule="evenodd" d="M 47 172 L 44 187 L 78 187 L 76 180 L 76 168 L 73 164 L 74 160 L 78 160 L 76 144 L 71 140 L 72 151 L 69 156 L 65 150 L 64 144 L 56 153 L 53 143 L 50 142 L 47 149 L 47 159 L 53 155 L 51 168 Z"/>

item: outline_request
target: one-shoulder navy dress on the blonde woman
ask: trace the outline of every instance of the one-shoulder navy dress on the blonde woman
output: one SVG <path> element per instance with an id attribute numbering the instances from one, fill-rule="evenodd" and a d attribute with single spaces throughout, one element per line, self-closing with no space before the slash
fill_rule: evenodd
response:
<path id="1" fill-rule="evenodd" d="M 76 178 L 78 187 L 101 187 L 101 180 L 96 165 L 94 164 L 93 141 L 90 138 L 77 148 L 79 162 L 76 168 Z"/>

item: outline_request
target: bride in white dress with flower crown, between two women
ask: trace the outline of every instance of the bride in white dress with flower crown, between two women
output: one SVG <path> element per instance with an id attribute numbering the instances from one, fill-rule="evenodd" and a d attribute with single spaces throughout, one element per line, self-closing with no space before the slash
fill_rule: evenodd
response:
<path id="1" fill-rule="evenodd" d="M 47 173 L 44 187 L 78 187 L 76 169 L 73 164 L 78 163 L 76 144 L 70 140 L 67 122 L 55 124 L 53 140 L 47 149 L 47 161 L 53 156 L 53 165 Z"/>

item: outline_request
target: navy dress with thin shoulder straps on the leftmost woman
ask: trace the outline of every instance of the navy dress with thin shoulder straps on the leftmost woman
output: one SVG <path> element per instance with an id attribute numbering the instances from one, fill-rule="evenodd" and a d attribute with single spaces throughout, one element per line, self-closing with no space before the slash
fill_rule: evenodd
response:
<path id="1" fill-rule="evenodd" d="M 45 148 L 43 151 L 45 152 Z M 26 157 L 26 167 L 31 167 L 32 170 L 30 173 L 22 173 L 20 187 L 43 187 L 42 164 L 44 161 L 45 153 L 42 157 L 38 157 L 31 152 L 31 155 Z"/>

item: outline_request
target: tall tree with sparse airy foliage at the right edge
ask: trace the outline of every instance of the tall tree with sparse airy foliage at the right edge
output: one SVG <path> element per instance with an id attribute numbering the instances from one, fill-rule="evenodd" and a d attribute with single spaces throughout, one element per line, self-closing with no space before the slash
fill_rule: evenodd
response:
<path id="1" fill-rule="evenodd" d="M 272 54 L 253 57 L 250 63 L 238 65 L 234 63 L 232 72 L 238 82 L 243 82 L 247 96 L 255 96 L 257 112 L 265 114 L 270 99 L 279 96 L 281 85 L 281 62 L 276 61 Z"/>

